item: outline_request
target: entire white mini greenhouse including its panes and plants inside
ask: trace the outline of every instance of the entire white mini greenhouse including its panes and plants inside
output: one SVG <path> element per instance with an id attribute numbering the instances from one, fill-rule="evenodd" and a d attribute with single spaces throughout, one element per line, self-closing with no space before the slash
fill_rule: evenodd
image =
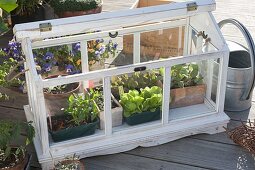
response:
<path id="1" fill-rule="evenodd" d="M 224 131 L 229 50 L 213 10 L 182 1 L 16 25 L 42 167 Z"/>

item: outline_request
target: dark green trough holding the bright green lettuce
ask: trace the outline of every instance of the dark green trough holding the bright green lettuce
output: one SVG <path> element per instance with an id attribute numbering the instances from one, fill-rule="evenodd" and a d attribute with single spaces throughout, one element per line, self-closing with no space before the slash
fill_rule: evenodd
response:
<path id="1" fill-rule="evenodd" d="M 160 109 L 158 108 L 155 112 L 142 112 L 135 113 L 129 117 L 125 117 L 125 121 L 128 125 L 137 125 L 141 123 L 151 122 L 159 120 L 161 117 Z"/>

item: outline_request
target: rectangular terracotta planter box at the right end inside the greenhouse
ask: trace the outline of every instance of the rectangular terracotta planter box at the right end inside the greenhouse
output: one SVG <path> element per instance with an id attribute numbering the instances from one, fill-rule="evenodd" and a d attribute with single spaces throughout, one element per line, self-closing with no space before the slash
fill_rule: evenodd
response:
<path id="1" fill-rule="evenodd" d="M 204 103 L 206 85 L 171 89 L 170 108 L 185 107 Z"/>

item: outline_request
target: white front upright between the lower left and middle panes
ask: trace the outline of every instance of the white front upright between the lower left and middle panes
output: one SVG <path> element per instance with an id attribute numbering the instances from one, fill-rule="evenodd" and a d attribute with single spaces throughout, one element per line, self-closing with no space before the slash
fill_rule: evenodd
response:
<path id="1" fill-rule="evenodd" d="M 104 120 L 105 120 L 105 134 L 109 136 L 112 134 L 112 112 L 111 112 L 111 77 L 103 79 L 104 88 Z"/>

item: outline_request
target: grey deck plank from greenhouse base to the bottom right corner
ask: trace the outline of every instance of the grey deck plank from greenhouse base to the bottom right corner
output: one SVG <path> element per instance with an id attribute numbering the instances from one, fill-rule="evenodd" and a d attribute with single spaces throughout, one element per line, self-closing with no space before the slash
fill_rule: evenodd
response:
<path id="1" fill-rule="evenodd" d="M 241 147 L 191 138 L 128 153 L 208 169 L 255 169 L 254 158 Z"/>

